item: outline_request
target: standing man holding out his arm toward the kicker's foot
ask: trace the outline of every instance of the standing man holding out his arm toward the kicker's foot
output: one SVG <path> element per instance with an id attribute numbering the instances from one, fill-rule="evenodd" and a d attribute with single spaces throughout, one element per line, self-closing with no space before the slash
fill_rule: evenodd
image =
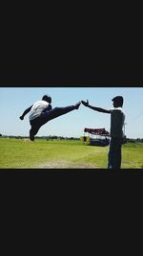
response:
<path id="1" fill-rule="evenodd" d="M 125 122 L 125 114 L 122 109 L 123 97 L 116 96 L 112 99 L 113 107 L 111 109 L 105 109 L 89 105 L 87 102 L 81 101 L 83 105 L 92 108 L 92 110 L 111 114 L 111 142 L 110 150 L 108 154 L 108 169 L 120 169 L 121 168 L 121 147 L 124 137 L 123 127 Z"/>

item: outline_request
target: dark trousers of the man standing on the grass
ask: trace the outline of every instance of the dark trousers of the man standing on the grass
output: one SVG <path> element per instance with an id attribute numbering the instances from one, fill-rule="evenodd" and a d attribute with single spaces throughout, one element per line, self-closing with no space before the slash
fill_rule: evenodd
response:
<path id="1" fill-rule="evenodd" d="M 110 151 L 108 154 L 108 169 L 121 168 L 121 147 L 122 138 L 112 138 L 110 142 Z"/>

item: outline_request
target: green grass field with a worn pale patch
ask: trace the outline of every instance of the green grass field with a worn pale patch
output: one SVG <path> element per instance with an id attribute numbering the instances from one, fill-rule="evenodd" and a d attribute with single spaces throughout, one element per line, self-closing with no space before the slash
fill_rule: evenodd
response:
<path id="1" fill-rule="evenodd" d="M 0 138 L 0 169 L 107 169 L 108 151 L 75 140 Z M 122 146 L 122 168 L 143 168 L 143 144 Z"/>

